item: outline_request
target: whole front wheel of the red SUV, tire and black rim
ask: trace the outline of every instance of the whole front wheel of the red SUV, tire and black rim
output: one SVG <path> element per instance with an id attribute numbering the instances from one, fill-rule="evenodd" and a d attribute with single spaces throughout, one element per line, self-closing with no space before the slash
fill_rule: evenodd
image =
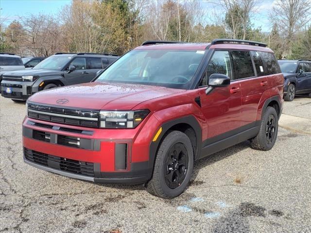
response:
<path id="1" fill-rule="evenodd" d="M 152 179 L 147 191 L 160 198 L 179 196 L 190 181 L 193 148 L 189 137 L 180 131 L 168 133 L 159 145 Z"/>

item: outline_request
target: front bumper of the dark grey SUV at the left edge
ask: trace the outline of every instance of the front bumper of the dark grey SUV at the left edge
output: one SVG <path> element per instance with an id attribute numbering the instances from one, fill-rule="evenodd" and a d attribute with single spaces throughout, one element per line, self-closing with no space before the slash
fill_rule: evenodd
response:
<path id="1" fill-rule="evenodd" d="M 33 82 L 1 81 L 1 96 L 9 99 L 27 100 L 33 93 Z M 10 89 L 10 92 L 7 92 Z"/>

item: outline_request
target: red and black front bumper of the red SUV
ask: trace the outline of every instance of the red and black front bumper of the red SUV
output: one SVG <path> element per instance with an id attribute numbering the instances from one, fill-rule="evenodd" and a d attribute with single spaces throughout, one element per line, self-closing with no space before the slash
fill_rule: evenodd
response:
<path id="1" fill-rule="evenodd" d="M 107 132 L 26 117 L 23 122 L 24 161 L 42 170 L 94 183 L 145 183 L 153 170 L 147 159 L 149 154 L 144 154 L 149 151 L 150 139 L 146 138 L 148 143 L 139 140 L 137 144 L 134 131 Z M 118 136 L 114 138 L 113 135 Z"/>

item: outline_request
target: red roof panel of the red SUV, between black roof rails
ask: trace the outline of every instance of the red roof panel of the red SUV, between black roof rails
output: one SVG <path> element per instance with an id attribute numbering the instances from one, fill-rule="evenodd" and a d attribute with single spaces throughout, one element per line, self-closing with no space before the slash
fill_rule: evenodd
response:
<path id="1" fill-rule="evenodd" d="M 225 49 L 225 50 L 256 50 L 264 52 L 273 52 L 271 49 L 253 45 L 242 44 L 214 44 L 211 43 L 169 43 L 142 45 L 134 50 L 207 50 L 207 49 Z"/>

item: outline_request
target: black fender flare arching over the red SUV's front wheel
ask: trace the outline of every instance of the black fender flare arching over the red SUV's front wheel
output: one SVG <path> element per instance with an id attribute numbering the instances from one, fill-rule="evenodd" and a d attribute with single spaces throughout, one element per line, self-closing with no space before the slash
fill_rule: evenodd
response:
<path id="1" fill-rule="evenodd" d="M 155 142 L 152 141 L 150 143 L 148 167 L 152 168 L 152 170 L 154 168 L 155 156 L 156 156 L 156 152 L 157 152 L 157 149 L 158 149 L 160 142 L 163 140 L 164 136 L 169 131 L 169 129 L 171 129 L 174 125 L 177 125 L 180 123 L 188 124 L 194 130 L 195 137 L 196 137 L 196 148 L 197 148 L 194 160 L 200 157 L 201 150 L 202 150 L 202 129 L 201 129 L 201 126 L 200 126 L 199 122 L 197 121 L 197 119 L 193 115 L 183 116 L 181 118 L 173 119 L 173 120 L 170 120 L 170 121 L 163 123 L 160 126 L 160 127 L 162 127 L 162 132 L 160 133 L 160 136 L 158 137 L 158 139 Z M 158 129 L 160 129 L 160 127 Z"/>

